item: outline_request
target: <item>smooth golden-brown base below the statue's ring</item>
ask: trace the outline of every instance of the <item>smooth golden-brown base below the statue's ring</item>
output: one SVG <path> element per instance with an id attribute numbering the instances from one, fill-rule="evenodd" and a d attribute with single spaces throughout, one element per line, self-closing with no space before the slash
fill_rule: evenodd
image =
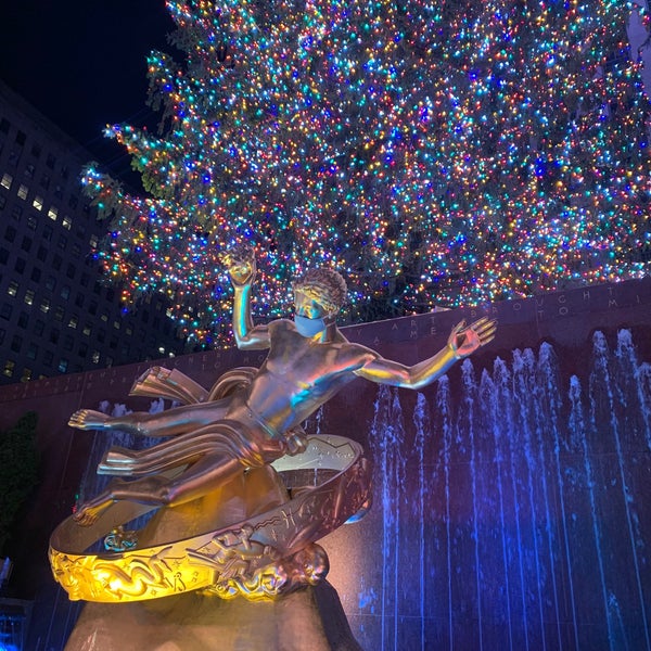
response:
<path id="1" fill-rule="evenodd" d="M 323 582 L 276 601 L 189 592 L 88 603 L 65 651 L 361 651 L 336 590 Z"/>

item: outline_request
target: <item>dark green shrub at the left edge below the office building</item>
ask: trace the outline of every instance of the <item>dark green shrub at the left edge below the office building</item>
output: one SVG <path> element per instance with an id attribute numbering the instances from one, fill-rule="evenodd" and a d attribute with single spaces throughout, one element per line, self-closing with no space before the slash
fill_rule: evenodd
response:
<path id="1" fill-rule="evenodd" d="M 11 536 L 21 507 L 38 482 L 38 452 L 34 411 L 0 433 L 0 552 Z"/>

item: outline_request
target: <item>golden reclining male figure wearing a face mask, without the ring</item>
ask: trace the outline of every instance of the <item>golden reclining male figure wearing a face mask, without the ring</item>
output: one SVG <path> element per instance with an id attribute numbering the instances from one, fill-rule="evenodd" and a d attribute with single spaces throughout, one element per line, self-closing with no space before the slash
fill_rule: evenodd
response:
<path id="1" fill-rule="evenodd" d="M 156 414 L 75 413 L 69 421 L 75 427 L 169 437 L 144 450 L 110 450 L 101 472 L 130 478 L 114 478 L 105 492 L 85 503 L 76 514 L 79 524 L 92 524 L 117 500 L 176 506 L 202 497 L 245 469 L 271 463 L 299 448 L 299 424 L 353 380 L 420 388 L 495 336 L 493 320 L 483 318 L 469 327 L 461 322 L 439 353 L 407 367 L 348 342 L 340 332 L 335 319 L 346 285 L 339 273 L 308 271 L 293 288 L 293 320 L 254 326 L 253 250 L 233 250 L 225 256 L 225 264 L 234 288 L 237 344 L 268 349 L 267 359 L 247 382 L 219 399 L 204 396 L 205 401 Z M 162 474 L 179 467 L 186 468 L 173 478 Z"/>

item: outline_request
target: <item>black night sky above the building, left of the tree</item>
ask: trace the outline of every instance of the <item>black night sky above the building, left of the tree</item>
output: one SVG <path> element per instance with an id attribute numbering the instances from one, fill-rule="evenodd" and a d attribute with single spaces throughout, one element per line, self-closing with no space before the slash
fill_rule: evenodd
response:
<path id="1" fill-rule="evenodd" d="M 112 171 L 124 150 L 107 123 L 154 126 L 145 105 L 146 55 L 173 53 L 164 0 L 21 0 L 0 13 L 0 78 Z"/>

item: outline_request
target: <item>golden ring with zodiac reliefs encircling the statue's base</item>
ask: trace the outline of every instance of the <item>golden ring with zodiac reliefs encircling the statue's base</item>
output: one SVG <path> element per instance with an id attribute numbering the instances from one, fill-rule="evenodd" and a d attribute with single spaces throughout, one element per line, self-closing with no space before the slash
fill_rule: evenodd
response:
<path id="1" fill-rule="evenodd" d="M 123 525 L 157 507 L 115 502 L 88 527 L 67 518 L 50 538 L 54 578 L 72 600 L 110 603 L 196 589 L 256 600 L 296 583 L 317 583 L 324 574 L 323 562 L 327 572 L 327 557 L 312 542 L 369 501 L 370 471 L 362 448 L 343 436 L 312 436 L 303 454 L 272 465 L 292 495 L 290 501 L 183 540 L 94 553 L 89 548 L 106 536 L 115 537 Z"/>

